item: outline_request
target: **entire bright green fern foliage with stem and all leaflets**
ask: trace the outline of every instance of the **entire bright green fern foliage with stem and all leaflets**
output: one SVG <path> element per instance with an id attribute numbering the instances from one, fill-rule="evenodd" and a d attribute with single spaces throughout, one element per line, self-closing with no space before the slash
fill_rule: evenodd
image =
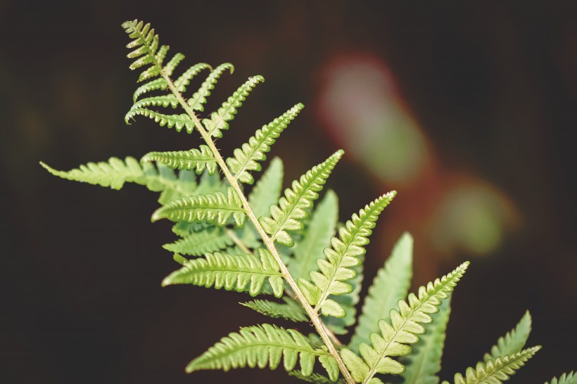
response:
<path id="1" fill-rule="evenodd" d="M 405 233 L 376 274 L 350 343 L 338 340 L 337 334 L 348 332 L 356 323 L 364 247 L 395 192 L 376 198 L 337 231 L 336 194 L 326 192 L 317 207 L 315 200 L 343 151 L 305 172 L 282 196 L 279 158 L 271 160 L 255 183 L 254 174 L 262 170 L 271 146 L 303 105 L 294 105 L 262 126 L 224 159 L 214 139 L 229 129 L 229 122 L 263 77 L 250 77 L 220 108 L 201 118 L 198 114 L 204 112 L 217 80 L 234 67 L 199 63 L 173 77 L 184 60 L 182 53 L 167 59 L 168 46 L 160 45 L 149 24 L 134 20 L 122 27 L 132 39 L 127 45 L 132 49 L 128 57 L 134 59 L 130 68 L 144 69 L 139 76 L 144 84 L 134 92 L 126 122 L 148 117 L 177 132 L 196 130 L 204 143 L 198 148 L 151 152 L 140 161 L 128 157 L 89 162 L 68 172 L 42 166 L 64 179 L 115 189 L 132 182 L 160 192 L 160 207 L 152 220 L 175 223 L 172 231 L 178 239 L 164 248 L 174 252 L 174 260 L 181 264 L 163 286 L 192 284 L 251 296 L 274 295 L 277 299 L 265 296 L 241 305 L 272 318 L 311 322 L 317 332 L 304 335 L 273 324 L 241 328 L 192 360 L 186 371 L 244 366 L 275 369 L 282 364 L 291 376 L 310 383 L 377 384 L 390 375 L 400 375 L 404 383 L 439 383 L 450 297 L 469 263 L 407 296 L 412 238 Z M 191 82 L 201 72 L 208 76 L 190 92 Z M 251 184 L 255 185 L 247 196 L 245 188 Z M 482 361 L 464 376 L 457 373 L 454 383 L 508 380 L 540 348 L 524 349 L 529 331 L 527 313 Z M 551 383 L 577 383 L 577 375 L 564 373 Z"/>

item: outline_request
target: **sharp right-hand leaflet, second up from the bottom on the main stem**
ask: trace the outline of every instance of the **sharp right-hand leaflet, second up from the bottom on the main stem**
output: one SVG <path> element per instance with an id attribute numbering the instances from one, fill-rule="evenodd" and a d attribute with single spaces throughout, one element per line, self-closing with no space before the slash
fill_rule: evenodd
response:
<path id="1" fill-rule="evenodd" d="M 396 192 L 389 192 L 374 200 L 358 215 L 346 222 L 338 231 L 338 237 L 331 239 L 331 248 L 325 248 L 324 257 L 317 260 L 320 272 L 311 271 L 310 278 L 314 285 L 305 279 L 299 279 L 298 284 L 310 305 L 320 309 L 325 316 L 343 317 L 345 310 L 329 295 L 350 293 L 353 287 L 345 281 L 353 279 L 356 272 L 351 269 L 360 264 L 360 255 L 364 255 L 363 246 L 369 243 L 376 220 L 385 207 L 391 203 Z"/>

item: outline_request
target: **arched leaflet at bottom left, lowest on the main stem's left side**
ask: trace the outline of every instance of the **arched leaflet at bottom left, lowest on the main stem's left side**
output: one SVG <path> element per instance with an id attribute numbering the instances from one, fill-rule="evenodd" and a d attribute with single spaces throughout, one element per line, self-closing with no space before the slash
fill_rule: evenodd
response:
<path id="1" fill-rule="evenodd" d="M 297 360 L 304 376 L 310 376 L 317 357 L 330 357 L 323 349 L 315 349 L 307 338 L 293 329 L 262 324 L 241 328 L 239 333 L 229 333 L 186 366 L 191 373 L 201 369 L 229 369 L 250 366 L 277 369 L 283 360 L 284 369 L 293 371 Z"/>

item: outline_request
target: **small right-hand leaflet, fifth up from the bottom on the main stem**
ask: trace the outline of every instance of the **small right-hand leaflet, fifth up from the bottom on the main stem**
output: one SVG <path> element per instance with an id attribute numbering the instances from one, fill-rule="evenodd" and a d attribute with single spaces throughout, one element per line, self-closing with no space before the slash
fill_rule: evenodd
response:
<path id="1" fill-rule="evenodd" d="M 234 119 L 236 108 L 240 108 L 246 96 L 253 90 L 256 84 L 264 82 L 265 78 L 257 75 L 250 77 L 237 89 L 227 101 L 222 103 L 216 112 L 210 114 L 210 118 L 203 119 L 203 125 L 210 136 L 222 137 L 222 129 L 229 129 L 228 121 Z"/>

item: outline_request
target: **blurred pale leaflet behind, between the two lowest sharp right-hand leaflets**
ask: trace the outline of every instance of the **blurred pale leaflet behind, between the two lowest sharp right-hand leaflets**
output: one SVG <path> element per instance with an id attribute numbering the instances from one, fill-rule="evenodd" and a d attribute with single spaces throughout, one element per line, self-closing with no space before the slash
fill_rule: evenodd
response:
<path id="1" fill-rule="evenodd" d="M 369 335 L 379 331 L 380 319 L 390 321 L 389 312 L 407 296 L 412 277 L 413 238 L 403 233 L 395 244 L 391 257 L 374 278 L 369 295 L 364 299 L 362 314 L 350 340 L 349 348 L 358 352 L 360 343 L 369 343 Z"/>

